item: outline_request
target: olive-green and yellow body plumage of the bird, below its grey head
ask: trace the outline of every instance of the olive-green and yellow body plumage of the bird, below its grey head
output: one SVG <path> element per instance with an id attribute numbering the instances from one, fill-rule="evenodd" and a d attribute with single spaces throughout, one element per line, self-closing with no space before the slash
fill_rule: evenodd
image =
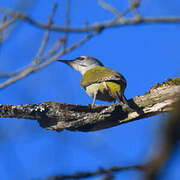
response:
<path id="1" fill-rule="evenodd" d="M 125 78 L 113 69 L 96 66 L 88 70 L 81 79 L 81 87 L 96 99 L 112 102 L 118 100 L 127 104 L 124 97 Z"/>

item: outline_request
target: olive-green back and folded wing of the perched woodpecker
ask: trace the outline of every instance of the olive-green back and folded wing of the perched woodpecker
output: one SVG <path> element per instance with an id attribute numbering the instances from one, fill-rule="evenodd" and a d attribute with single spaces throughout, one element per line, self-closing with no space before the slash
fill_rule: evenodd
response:
<path id="1" fill-rule="evenodd" d="M 104 81 L 116 81 L 126 87 L 126 79 L 120 73 L 103 66 L 96 66 L 88 70 L 81 79 L 81 87 L 86 88 L 91 84 Z"/>

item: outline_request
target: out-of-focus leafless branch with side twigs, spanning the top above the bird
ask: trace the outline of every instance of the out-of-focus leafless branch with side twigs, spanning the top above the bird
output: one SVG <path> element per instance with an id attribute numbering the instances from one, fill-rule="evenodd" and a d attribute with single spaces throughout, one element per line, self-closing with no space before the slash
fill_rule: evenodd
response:
<path id="1" fill-rule="evenodd" d="M 29 18 L 28 16 L 26 16 L 22 13 L 17 13 L 12 10 L 8 10 L 8 9 L 0 7 L 0 11 L 3 12 L 4 14 L 11 15 L 14 18 L 24 20 L 25 22 L 35 25 L 36 27 L 41 27 L 41 28 L 47 29 L 36 58 L 32 61 L 32 63 L 30 65 L 28 65 L 27 67 L 25 67 L 23 69 L 20 69 L 16 72 L 12 72 L 12 73 L 0 74 L 0 77 L 3 77 L 3 78 L 12 77 L 12 78 L 8 79 L 7 81 L 3 82 L 2 84 L 0 84 L 0 88 L 6 87 L 17 80 L 22 79 L 26 75 L 47 66 L 48 64 L 52 63 L 56 59 L 63 56 L 65 53 L 70 52 L 73 49 L 77 48 L 78 46 L 82 45 L 83 43 L 87 42 L 89 39 L 91 39 L 92 37 L 99 34 L 105 28 L 120 27 L 120 26 L 125 26 L 125 25 L 136 25 L 136 24 L 141 24 L 141 23 L 149 23 L 149 24 L 150 23 L 180 23 L 180 17 L 159 17 L 159 18 L 156 18 L 156 17 L 142 18 L 141 17 L 141 18 L 132 18 L 132 19 L 124 19 L 123 18 L 123 20 L 122 20 L 122 17 L 124 17 L 127 13 L 129 13 L 133 9 L 136 9 L 139 6 L 139 3 L 140 3 L 140 0 L 135 0 L 133 3 L 131 3 L 131 5 L 127 9 L 125 9 L 121 14 L 119 14 L 118 16 L 116 16 L 115 18 L 113 18 L 110 21 L 107 21 L 105 23 L 98 23 L 98 24 L 92 25 L 92 26 L 85 26 L 82 28 L 70 28 L 69 27 L 70 1 L 67 4 L 66 27 L 55 27 L 52 25 L 51 20 L 48 21 L 48 24 L 42 24 L 37 21 L 34 21 L 33 19 Z M 52 12 L 52 16 L 54 14 L 54 11 L 55 10 L 53 10 L 53 12 Z M 52 17 L 50 17 L 49 19 L 51 19 L 51 18 Z M 52 48 L 51 50 L 49 50 L 49 52 L 44 57 L 40 57 L 45 48 L 45 45 L 48 41 L 48 36 L 49 36 L 48 34 L 49 34 L 50 30 L 62 31 L 62 32 L 65 32 L 66 35 L 64 38 L 61 38 L 62 41 L 58 41 L 55 44 L 55 47 Z M 66 44 L 67 35 L 69 32 L 85 32 L 85 33 L 89 32 L 89 33 L 87 34 L 87 36 L 85 38 L 83 38 L 79 42 L 71 45 L 68 48 L 65 48 L 66 45 L 64 45 L 63 50 L 58 53 L 57 50 L 61 46 L 62 42 L 64 44 Z M 32 66 L 34 66 L 34 64 L 36 65 L 36 67 L 32 67 Z"/>

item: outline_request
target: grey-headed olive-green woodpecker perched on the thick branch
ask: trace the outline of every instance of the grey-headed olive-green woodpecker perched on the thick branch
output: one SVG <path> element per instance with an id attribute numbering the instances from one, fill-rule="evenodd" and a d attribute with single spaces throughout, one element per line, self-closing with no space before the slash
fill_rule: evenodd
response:
<path id="1" fill-rule="evenodd" d="M 58 60 L 71 66 L 82 74 L 81 87 L 93 98 L 92 107 L 95 100 L 115 102 L 128 105 L 124 90 L 126 79 L 119 72 L 104 67 L 96 58 L 91 56 L 80 56 L 73 60 Z"/>

